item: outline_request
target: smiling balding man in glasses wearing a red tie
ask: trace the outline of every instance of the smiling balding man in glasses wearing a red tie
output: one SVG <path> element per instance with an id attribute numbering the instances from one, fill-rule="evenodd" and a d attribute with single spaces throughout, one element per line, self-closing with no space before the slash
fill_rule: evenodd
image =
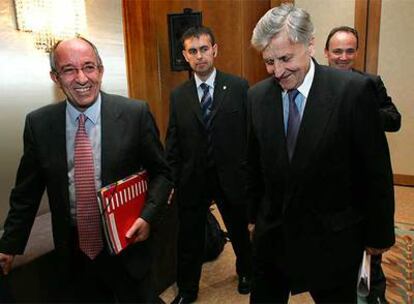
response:
<path id="1" fill-rule="evenodd" d="M 172 187 L 154 119 L 146 103 L 100 91 L 104 67 L 88 40 L 58 43 L 50 64 L 50 76 L 67 98 L 26 118 L 24 154 L 0 240 L 3 272 L 24 252 L 46 188 L 54 244 L 62 258 L 55 265 L 62 282 L 55 300 L 152 302 L 150 228 Z M 85 136 L 78 139 L 81 133 Z M 96 189 L 142 168 L 149 175 L 148 199 L 126 234 L 135 244 L 112 256 L 103 239 Z M 90 183 L 83 182 L 85 176 Z"/>

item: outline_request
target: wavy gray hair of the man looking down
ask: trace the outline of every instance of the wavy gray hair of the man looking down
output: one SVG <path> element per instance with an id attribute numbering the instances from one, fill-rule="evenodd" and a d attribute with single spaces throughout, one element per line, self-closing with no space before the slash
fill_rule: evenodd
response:
<path id="1" fill-rule="evenodd" d="M 309 13 L 292 4 L 282 4 L 268 10 L 253 30 L 252 46 L 261 52 L 273 37 L 283 31 L 291 42 L 308 45 L 314 34 Z"/>

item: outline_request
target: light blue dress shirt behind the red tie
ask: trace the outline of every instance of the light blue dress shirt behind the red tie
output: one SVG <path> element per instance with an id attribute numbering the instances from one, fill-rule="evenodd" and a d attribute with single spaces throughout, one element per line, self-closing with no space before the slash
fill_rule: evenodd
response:
<path id="1" fill-rule="evenodd" d="M 86 116 L 85 129 L 91 141 L 93 161 L 95 166 L 95 186 L 101 188 L 101 95 L 96 102 L 80 112 L 70 102 L 66 101 L 66 154 L 68 162 L 69 202 L 72 225 L 76 225 L 76 193 L 75 193 L 75 168 L 73 157 L 75 152 L 75 136 L 78 130 L 78 117 L 83 113 Z"/>

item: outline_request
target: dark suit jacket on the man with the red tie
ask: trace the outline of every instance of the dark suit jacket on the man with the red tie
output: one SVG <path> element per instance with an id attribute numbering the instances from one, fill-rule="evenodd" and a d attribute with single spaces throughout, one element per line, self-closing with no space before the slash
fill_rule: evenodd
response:
<path id="1" fill-rule="evenodd" d="M 148 200 L 142 217 L 157 221 L 166 207 L 172 185 L 163 158 L 158 129 L 142 101 L 101 92 L 102 185 L 145 168 L 149 173 Z M 10 195 L 10 211 L 0 240 L 0 252 L 22 254 L 42 194 L 47 189 L 55 248 L 68 251 L 71 243 L 68 169 L 65 133 L 66 102 L 40 108 L 26 117 L 24 154 Z M 137 276 L 148 269 L 148 242 L 121 254 Z"/>

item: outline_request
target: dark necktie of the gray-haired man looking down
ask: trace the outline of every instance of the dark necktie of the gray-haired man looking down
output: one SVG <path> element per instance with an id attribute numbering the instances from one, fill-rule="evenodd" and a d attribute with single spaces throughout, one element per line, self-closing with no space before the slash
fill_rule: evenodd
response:
<path id="1" fill-rule="evenodd" d="M 300 126 L 300 114 L 298 107 L 296 106 L 295 99 L 298 96 L 299 91 L 294 89 L 288 91 L 289 96 L 289 118 L 287 125 L 287 151 L 289 160 L 292 160 L 293 152 L 295 151 L 296 146 L 296 137 L 298 136 L 299 126 Z"/>

